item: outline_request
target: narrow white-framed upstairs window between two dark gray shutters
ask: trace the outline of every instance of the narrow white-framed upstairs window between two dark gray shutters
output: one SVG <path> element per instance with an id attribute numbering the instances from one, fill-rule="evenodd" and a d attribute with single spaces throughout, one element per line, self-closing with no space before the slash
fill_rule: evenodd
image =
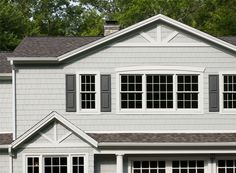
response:
<path id="1" fill-rule="evenodd" d="M 99 75 L 80 73 L 79 75 L 79 112 L 98 112 Z"/>

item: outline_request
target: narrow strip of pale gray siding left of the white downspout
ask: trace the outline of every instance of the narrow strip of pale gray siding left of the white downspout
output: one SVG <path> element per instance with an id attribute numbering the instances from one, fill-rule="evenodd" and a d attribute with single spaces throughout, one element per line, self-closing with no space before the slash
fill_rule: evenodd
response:
<path id="1" fill-rule="evenodd" d="M 0 80 L 0 132 L 12 131 L 12 82 Z"/>

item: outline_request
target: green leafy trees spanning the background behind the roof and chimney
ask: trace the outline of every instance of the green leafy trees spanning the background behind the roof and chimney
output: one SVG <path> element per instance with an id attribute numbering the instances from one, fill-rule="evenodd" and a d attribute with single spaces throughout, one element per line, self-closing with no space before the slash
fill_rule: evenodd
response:
<path id="1" fill-rule="evenodd" d="M 0 50 L 24 36 L 98 36 L 104 19 L 122 28 L 164 14 L 214 36 L 236 35 L 236 0 L 2 0 Z"/>

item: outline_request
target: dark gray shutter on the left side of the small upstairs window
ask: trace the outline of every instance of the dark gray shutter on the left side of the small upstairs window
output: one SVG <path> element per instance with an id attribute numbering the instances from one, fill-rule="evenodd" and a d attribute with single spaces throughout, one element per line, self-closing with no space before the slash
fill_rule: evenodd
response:
<path id="1" fill-rule="evenodd" d="M 66 75 L 66 112 L 76 112 L 76 75 Z"/>

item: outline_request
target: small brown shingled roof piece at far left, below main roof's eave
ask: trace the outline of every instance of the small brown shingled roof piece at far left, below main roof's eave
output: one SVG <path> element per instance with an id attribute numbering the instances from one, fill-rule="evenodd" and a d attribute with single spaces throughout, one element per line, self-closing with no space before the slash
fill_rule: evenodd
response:
<path id="1" fill-rule="evenodd" d="M 12 56 L 11 52 L 0 52 L 0 73 L 11 73 L 10 62 L 7 57 Z"/>

